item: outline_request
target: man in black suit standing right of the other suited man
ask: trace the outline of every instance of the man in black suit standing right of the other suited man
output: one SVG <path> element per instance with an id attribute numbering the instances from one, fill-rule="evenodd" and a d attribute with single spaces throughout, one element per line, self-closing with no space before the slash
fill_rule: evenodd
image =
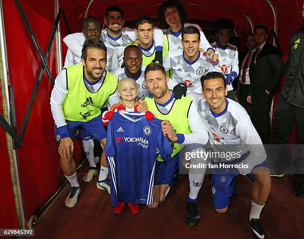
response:
<path id="1" fill-rule="evenodd" d="M 250 88 L 247 102 L 252 104 L 253 125 L 263 144 L 270 140 L 270 108 L 273 95 L 283 74 L 283 65 L 278 49 L 268 43 L 268 30 L 259 25 L 254 29 L 257 44 L 249 67 Z"/>

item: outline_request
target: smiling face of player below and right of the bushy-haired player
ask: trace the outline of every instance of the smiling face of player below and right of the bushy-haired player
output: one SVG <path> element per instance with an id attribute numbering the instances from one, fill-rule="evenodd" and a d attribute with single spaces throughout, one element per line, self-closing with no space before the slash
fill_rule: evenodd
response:
<path id="1" fill-rule="evenodd" d="M 196 33 L 184 34 L 183 40 L 181 41 L 184 48 L 185 58 L 189 61 L 196 60 L 199 54 L 198 51 L 201 43 L 199 35 Z"/>

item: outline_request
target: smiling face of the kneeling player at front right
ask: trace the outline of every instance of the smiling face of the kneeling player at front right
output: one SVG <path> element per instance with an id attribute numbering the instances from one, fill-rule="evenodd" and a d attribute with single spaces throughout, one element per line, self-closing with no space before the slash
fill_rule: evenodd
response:
<path id="1" fill-rule="evenodd" d="M 218 114 L 225 110 L 227 93 L 228 90 L 222 78 L 204 80 L 203 95 L 213 112 Z"/>

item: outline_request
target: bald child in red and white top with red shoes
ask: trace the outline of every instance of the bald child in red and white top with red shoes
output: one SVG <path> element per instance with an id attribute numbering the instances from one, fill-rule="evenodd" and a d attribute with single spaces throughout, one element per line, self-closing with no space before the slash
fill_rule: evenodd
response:
<path id="1" fill-rule="evenodd" d="M 121 97 L 122 101 L 117 104 L 112 105 L 109 111 L 102 114 L 102 123 L 107 126 L 108 121 L 113 117 L 114 112 L 121 110 L 127 112 L 138 112 L 138 103 L 136 102 L 136 97 L 138 95 L 137 83 L 131 78 L 123 78 L 118 82 L 118 95 Z M 137 203 L 128 203 L 131 213 L 137 214 L 140 212 L 139 205 Z M 125 202 L 119 201 L 117 205 L 113 208 L 115 214 L 120 214 L 125 207 Z"/>

